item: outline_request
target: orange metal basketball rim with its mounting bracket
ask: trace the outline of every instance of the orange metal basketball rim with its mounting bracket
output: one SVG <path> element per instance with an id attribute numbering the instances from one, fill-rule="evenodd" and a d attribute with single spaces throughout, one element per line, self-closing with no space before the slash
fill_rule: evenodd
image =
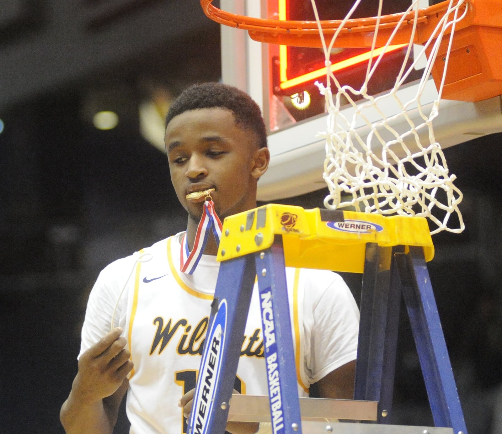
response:
<path id="1" fill-rule="evenodd" d="M 338 31 L 343 20 L 321 21 L 323 37 L 329 39 L 339 32 L 334 47 L 371 47 L 378 27 L 376 47 L 385 46 L 396 26 L 401 23 L 392 39 L 393 44 L 424 44 L 436 25 L 444 17 L 450 1 L 408 13 L 392 14 L 380 18 L 350 19 Z M 201 7 L 211 20 L 225 26 L 244 29 L 249 37 L 269 44 L 299 47 L 322 47 L 316 21 L 279 21 L 246 17 L 222 11 L 212 0 L 200 0 Z M 448 61 L 448 73 L 442 97 L 462 101 L 479 101 L 502 94 L 502 8 L 498 0 L 467 0 L 461 8 L 468 8 L 465 18 L 457 23 Z M 402 19 L 404 17 L 404 19 Z M 416 32 L 411 39 L 414 20 Z M 444 56 L 448 40 L 442 42 L 432 75 L 436 85 L 445 67 Z M 438 81 L 439 80 L 439 81 Z"/>

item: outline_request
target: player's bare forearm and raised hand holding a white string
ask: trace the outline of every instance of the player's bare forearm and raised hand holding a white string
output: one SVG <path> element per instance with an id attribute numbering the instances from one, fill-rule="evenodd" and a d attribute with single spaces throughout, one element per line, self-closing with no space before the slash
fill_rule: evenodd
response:
<path id="1" fill-rule="evenodd" d="M 78 361 L 60 419 L 67 434 L 111 434 L 133 368 L 126 339 L 117 328 L 85 351 Z"/>

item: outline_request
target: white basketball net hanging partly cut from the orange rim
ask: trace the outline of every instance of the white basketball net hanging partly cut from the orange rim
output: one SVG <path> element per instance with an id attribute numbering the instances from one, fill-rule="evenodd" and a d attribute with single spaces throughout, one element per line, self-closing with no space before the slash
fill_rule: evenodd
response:
<path id="1" fill-rule="evenodd" d="M 311 1 L 319 25 L 315 1 Z M 379 14 L 382 11 L 382 1 L 380 0 Z M 413 20 L 411 34 L 412 42 L 408 46 L 403 66 L 396 77 L 394 87 L 386 94 L 375 97 L 367 94 L 367 84 L 385 53 L 384 50 L 380 56 L 375 57 L 373 61 L 371 60 L 375 50 L 378 23 L 374 32 L 366 78 L 360 89 L 356 90 L 347 85 L 341 86 L 329 68 L 331 65 L 329 53 L 334 41 L 345 22 L 359 5 L 360 0 L 355 2 L 342 21 L 329 46 L 326 46 L 324 38 L 321 38 L 327 67 L 326 86 L 321 83 L 316 84 L 325 97 L 328 111 L 327 130 L 319 133 L 319 136 L 326 139 L 323 176 L 330 192 L 324 199 L 326 208 L 336 209 L 351 206 L 356 211 L 367 213 L 428 217 L 437 226 L 435 230 L 431 231 L 431 234 L 442 230 L 458 233 L 464 229 L 462 215 L 458 210 L 462 193 L 453 185 L 456 177 L 448 174 L 443 152 L 434 137 L 432 128 L 432 120 L 438 115 L 455 24 L 464 17 L 467 11 L 465 8 L 463 14 L 460 13 L 460 6 L 464 1 L 459 0 L 458 3 L 450 1 L 448 11 L 429 41 L 424 45 L 420 56 L 414 58 L 411 66 L 406 69 L 407 61 L 413 50 L 417 23 L 418 0 L 413 2 L 407 11 L 415 9 L 415 20 Z M 402 21 L 403 19 L 387 41 L 386 48 L 392 44 L 394 35 Z M 445 68 L 438 91 L 439 95 L 433 103 L 430 114 L 426 115 L 420 98 L 431 74 L 439 44 L 447 29 L 451 33 L 447 36 L 450 41 L 445 56 Z M 321 32 L 320 25 L 319 31 Z M 409 101 L 401 101 L 397 95 L 398 89 L 414 70 L 419 59 L 425 57 L 425 50 L 432 44 L 431 41 L 434 38 L 436 40 L 433 43 L 416 95 Z M 382 73 L 382 71 L 379 72 Z M 334 94 L 331 83 L 336 86 Z M 354 102 L 354 97 L 356 97 L 355 99 L 361 97 L 363 99 Z M 347 104 L 347 101 L 353 110 L 347 110 L 346 107 L 343 107 L 344 115 L 340 106 Z M 384 113 L 388 104 L 397 104 L 398 114 L 386 116 Z M 420 123 L 415 124 L 412 121 L 407 112 L 409 110 L 419 111 Z M 348 115 L 347 111 L 350 112 Z M 375 118 L 378 120 L 375 121 Z M 391 123 L 396 124 L 396 120 L 406 125 L 405 132 L 397 131 L 391 126 Z M 365 140 L 357 132 L 357 130 L 361 130 L 361 124 L 366 125 L 366 132 L 369 132 Z M 413 152 L 410 148 L 413 149 Z M 459 227 L 455 229 L 447 226 L 450 215 L 453 213 L 456 213 L 459 219 Z M 440 216 L 438 217 L 437 214 Z"/>

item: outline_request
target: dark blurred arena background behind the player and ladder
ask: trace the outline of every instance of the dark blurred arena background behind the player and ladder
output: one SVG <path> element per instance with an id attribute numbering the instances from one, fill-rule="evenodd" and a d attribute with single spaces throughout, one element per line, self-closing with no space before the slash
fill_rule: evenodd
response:
<path id="1" fill-rule="evenodd" d="M 198 0 L 2 2 L 0 433 L 64 432 L 97 274 L 185 228 L 148 110 L 220 79 L 220 29 Z M 498 133 L 445 150 L 466 229 L 435 235 L 429 264 L 470 434 L 502 433 L 501 147 Z M 344 277 L 358 300 L 361 277 Z M 390 422 L 433 425 L 406 314 L 397 365 Z"/>

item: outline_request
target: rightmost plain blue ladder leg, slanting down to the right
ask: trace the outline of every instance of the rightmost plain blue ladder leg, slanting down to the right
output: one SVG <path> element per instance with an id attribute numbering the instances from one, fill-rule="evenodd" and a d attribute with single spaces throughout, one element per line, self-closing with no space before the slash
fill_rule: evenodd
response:
<path id="1" fill-rule="evenodd" d="M 396 260 L 434 423 L 467 434 L 423 250 Z"/>

